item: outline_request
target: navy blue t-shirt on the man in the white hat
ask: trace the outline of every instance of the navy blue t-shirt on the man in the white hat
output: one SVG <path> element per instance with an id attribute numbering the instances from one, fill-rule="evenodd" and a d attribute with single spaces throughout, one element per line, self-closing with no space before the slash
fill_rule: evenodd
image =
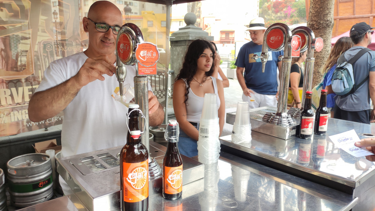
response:
<path id="1" fill-rule="evenodd" d="M 278 57 L 284 55 L 284 51 L 268 51 L 268 61 L 266 68 L 262 72 L 261 59 L 251 59 L 254 54 L 260 56 L 262 45 L 257 45 L 250 41 L 240 48 L 235 65 L 245 68 L 246 87 L 263 95 L 276 95 L 278 92 L 277 69 Z"/>

